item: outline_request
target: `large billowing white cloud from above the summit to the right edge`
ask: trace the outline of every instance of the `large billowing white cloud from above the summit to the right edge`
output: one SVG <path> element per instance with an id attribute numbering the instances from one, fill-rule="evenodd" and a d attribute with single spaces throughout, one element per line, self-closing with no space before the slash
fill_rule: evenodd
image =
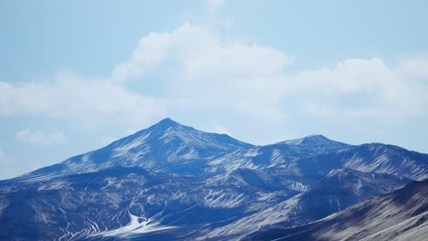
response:
<path id="1" fill-rule="evenodd" d="M 222 39 L 204 26 L 185 24 L 143 37 L 112 79 L 163 87 L 166 104 L 183 110 L 219 110 L 280 122 L 311 116 L 405 117 L 423 114 L 426 59 L 387 65 L 380 58 L 349 58 L 336 67 L 286 71 L 292 58 L 273 47 Z M 419 69 L 419 70 L 418 70 Z M 424 69 L 424 68 L 423 68 Z M 292 108 L 290 108 L 290 106 Z M 295 107 L 304 109 L 295 111 Z"/>

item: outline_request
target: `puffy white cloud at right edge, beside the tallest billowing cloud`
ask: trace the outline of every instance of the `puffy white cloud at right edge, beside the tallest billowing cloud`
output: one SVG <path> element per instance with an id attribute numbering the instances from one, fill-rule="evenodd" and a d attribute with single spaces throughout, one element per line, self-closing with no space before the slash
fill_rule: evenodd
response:
<path id="1" fill-rule="evenodd" d="M 380 58 L 346 59 L 335 68 L 305 70 L 288 78 L 291 94 L 316 103 L 305 106 L 316 116 L 391 118 L 426 112 L 428 86 Z"/>

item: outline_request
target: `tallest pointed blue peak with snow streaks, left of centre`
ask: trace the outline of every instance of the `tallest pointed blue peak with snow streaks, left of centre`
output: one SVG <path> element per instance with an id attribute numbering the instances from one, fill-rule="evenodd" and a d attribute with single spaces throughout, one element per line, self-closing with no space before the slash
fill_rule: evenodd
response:
<path id="1" fill-rule="evenodd" d="M 226 134 L 198 131 L 165 119 L 102 149 L 28 173 L 20 179 L 37 180 L 73 173 L 93 173 L 115 166 L 200 174 L 203 173 L 207 158 L 251 146 Z"/>

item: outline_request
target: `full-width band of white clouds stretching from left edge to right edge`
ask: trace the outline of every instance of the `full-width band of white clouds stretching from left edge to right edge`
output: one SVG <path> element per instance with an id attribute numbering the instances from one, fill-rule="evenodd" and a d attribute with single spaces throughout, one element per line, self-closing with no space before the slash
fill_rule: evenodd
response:
<path id="1" fill-rule="evenodd" d="M 142 37 L 132 57 L 106 79 L 65 74 L 21 85 L 0 82 L 0 115 L 114 121 L 130 129 L 166 116 L 167 110 L 217 111 L 261 124 L 295 115 L 420 116 L 427 112 L 427 63 L 426 58 L 393 65 L 381 58 L 349 58 L 335 67 L 290 73 L 293 59 L 281 50 L 184 24 Z"/>

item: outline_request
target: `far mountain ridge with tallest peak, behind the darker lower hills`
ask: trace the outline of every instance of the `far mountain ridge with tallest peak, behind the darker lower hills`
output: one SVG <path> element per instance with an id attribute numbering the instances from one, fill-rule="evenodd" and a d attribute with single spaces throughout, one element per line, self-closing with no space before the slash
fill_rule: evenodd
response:
<path id="1" fill-rule="evenodd" d="M 98 150 L 71 157 L 15 179 L 36 181 L 122 165 L 187 174 L 215 174 L 238 168 L 274 167 L 284 170 L 286 175 L 318 177 L 333 169 L 349 168 L 423 180 L 428 178 L 427 162 L 428 154 L 408 151 L 398 146 L 381 143 L 349 145 L 329 140 L 324 135 L 310 135 L 255 146 L 226 134 L 198 131 L 166 118 Z M 328 168 L 319 169 L 320 165 Z"/>

